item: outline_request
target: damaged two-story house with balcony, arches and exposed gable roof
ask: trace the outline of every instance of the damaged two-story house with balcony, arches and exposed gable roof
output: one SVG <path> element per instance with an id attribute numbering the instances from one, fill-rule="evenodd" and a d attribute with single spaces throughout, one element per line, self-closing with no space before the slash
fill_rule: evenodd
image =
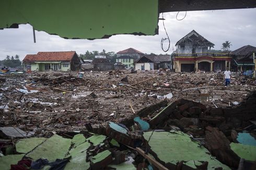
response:
<path id="1" fill-rule="evenodd" d="M 208 53 L 214 44 L 192 30 L 176 43 L 173 57 L 175 71 L 224 71 L 230 68 L 229 54 Z"/>

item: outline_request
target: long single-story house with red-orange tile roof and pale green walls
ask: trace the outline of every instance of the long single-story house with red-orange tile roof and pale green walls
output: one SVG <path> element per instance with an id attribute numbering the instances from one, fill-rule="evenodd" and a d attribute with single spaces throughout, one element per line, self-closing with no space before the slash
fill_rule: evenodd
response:
<path id="1" fill-rule="evenodd" d="M 38 52 L 26 55 L 22 64 L 32 71 L 75 71 L 79 69 L 80 59 L 75 51 Z"/>

